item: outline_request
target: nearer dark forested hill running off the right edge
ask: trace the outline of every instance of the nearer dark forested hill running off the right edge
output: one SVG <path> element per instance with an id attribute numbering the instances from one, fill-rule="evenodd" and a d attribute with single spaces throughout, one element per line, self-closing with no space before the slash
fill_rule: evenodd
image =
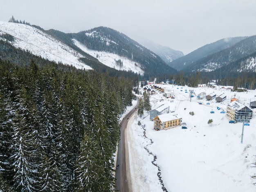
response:
<path id="1" fill-rule="evenodd" d="M 226 73 L 256 72 L 256 36 L 240 40 L 236 44 L 214 54 L 197 60 L 185 67 L 184 71 L 216 71 L 225 69 Z"/>

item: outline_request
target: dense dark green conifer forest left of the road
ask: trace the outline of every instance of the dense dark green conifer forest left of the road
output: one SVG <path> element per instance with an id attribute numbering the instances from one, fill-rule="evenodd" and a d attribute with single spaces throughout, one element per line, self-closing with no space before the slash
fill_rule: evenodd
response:
<path id="1" fill-rule="evenodd" d="M 0 85 L 1 192 L 114 190 L 131 80 L 0 59 Z"/>

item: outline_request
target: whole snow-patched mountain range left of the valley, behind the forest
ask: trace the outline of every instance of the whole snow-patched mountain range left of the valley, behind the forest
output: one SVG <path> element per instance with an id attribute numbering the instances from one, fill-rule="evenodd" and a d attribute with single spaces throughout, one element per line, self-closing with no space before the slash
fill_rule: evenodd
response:
<path id="1" fill-rule="evenodd" d="M 176 72 L 157 54 L 107 27 L 63 33 L 21 23 L 0 22 L 0 40 L 36 56 L 78 69 L 105 65 L 118 71 L 146 73 L 147 76 Z"/>

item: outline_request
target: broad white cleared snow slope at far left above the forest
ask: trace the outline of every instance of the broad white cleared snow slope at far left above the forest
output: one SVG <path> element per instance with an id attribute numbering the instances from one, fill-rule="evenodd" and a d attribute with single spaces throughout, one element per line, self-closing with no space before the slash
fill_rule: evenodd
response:
<path id="1" fill-rule="evenodd" d="M 11 42 L 13 46 L 28 50 L 36 56 L 41 56 L 56 63 L 73 65 L 78 69 L 92 69 L 78 60 L 83 56 L 77 51 L 35 27 L 0 21 L 0 34 L 4 33 L 8 33 L 15 38 L 15 41 Z"/>

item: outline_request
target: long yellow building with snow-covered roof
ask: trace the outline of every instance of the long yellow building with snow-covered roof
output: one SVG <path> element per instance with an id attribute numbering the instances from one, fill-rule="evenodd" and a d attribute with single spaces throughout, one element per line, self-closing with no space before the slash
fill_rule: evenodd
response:
<path id="1" fill-rule="evenodd" d="M 153 118 L 155 130 L 166 130 L 181 125 L 181 118 L 177 114 L 168 113 Z"/>

